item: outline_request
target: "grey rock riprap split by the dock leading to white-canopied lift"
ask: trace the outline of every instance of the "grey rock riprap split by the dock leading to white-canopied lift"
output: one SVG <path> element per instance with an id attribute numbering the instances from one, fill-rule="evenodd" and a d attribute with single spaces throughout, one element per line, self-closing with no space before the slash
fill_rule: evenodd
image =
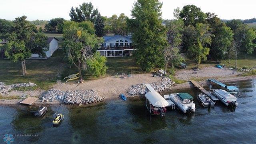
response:
<path id="1" fill-rule="evenodd" d="M 156 92 L 162 92 L 164 90 L 170 89 L 170 87 L 174 83 L 175 82 L 172 82 L 170 78 L 164 77 L 161 80 L 150 83 L 150 85 L 152 86 L 152 88 L 156 90 Z M 147 92 L 148 92 L 148 88 L 146 88 L 145 84 L 132 85 L 128 90 L 128 93 L 130 95 L 146 94 Z"/>

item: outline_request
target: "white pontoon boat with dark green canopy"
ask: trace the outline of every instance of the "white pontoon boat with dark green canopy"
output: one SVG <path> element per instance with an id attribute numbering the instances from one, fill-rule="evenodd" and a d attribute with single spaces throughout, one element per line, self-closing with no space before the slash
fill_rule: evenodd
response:
<path id="1" fill-rule="evenodd" d="M 193 102 L 193 97 L 188 93 L 170 94 L 170 99 L 184 113 L 196 111 L 196 106 Z"/>

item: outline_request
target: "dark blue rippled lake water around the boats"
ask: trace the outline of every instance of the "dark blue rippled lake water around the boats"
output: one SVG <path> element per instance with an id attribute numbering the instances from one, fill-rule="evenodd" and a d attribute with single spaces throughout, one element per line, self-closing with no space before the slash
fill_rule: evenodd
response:
<path id="1" fill-rule="evenodd" d="M 164 117 L 149 116 L 144 101 L 108 100 L 97 106 L 48 106 L 42 118 L 30 111 L 37 107 L 0 106 L 0 144 L 4 134 L 17 143 L 256 143 L 256 80 L 229 83 L 244 89 L 236 108 L 218 104 L 211 109 L 199 105 L 196 89 L 176 90 L 194 96 L 196 112 L 168 110 Z M 162 94 L 163 95 L 163 94 Z M 64 121 L 52 127 L 53 114 Z M 36 136 L 16 136 L 36 134 Z"/>

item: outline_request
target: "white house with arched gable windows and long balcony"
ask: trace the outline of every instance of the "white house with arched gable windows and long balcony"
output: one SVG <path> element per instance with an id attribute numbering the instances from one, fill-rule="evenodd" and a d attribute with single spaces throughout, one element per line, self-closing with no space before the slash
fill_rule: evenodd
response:
<path id="1" fill-rule="evenodd" d="M 106 57 L 132 56 L 134 49 L 131 36 L 103 36 L 104 43 L 97 51 Z"/>

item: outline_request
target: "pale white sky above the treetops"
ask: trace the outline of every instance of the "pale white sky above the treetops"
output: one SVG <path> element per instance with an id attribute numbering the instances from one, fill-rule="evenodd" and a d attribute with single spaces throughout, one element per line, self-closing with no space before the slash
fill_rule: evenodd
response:
<path id="1" fill-rule="evenodd" d="M 50 20 L 64 18 L 70 20 L 70 8 L 83 2 L 92 2 L 102 16 L 124 13 L 131 17 L 135 0 L 3 0 L 0 3 L 0 18 L 14 20 L 27 16 L 27 20 Z M 250 19 L 256 17 L 256 0 L 160 0 L 163 2 L 162 18 L 172 19 L 174 8 L 187 4 L 200 7 L 203 12 L 214 12 L 221 19 Z"/>

